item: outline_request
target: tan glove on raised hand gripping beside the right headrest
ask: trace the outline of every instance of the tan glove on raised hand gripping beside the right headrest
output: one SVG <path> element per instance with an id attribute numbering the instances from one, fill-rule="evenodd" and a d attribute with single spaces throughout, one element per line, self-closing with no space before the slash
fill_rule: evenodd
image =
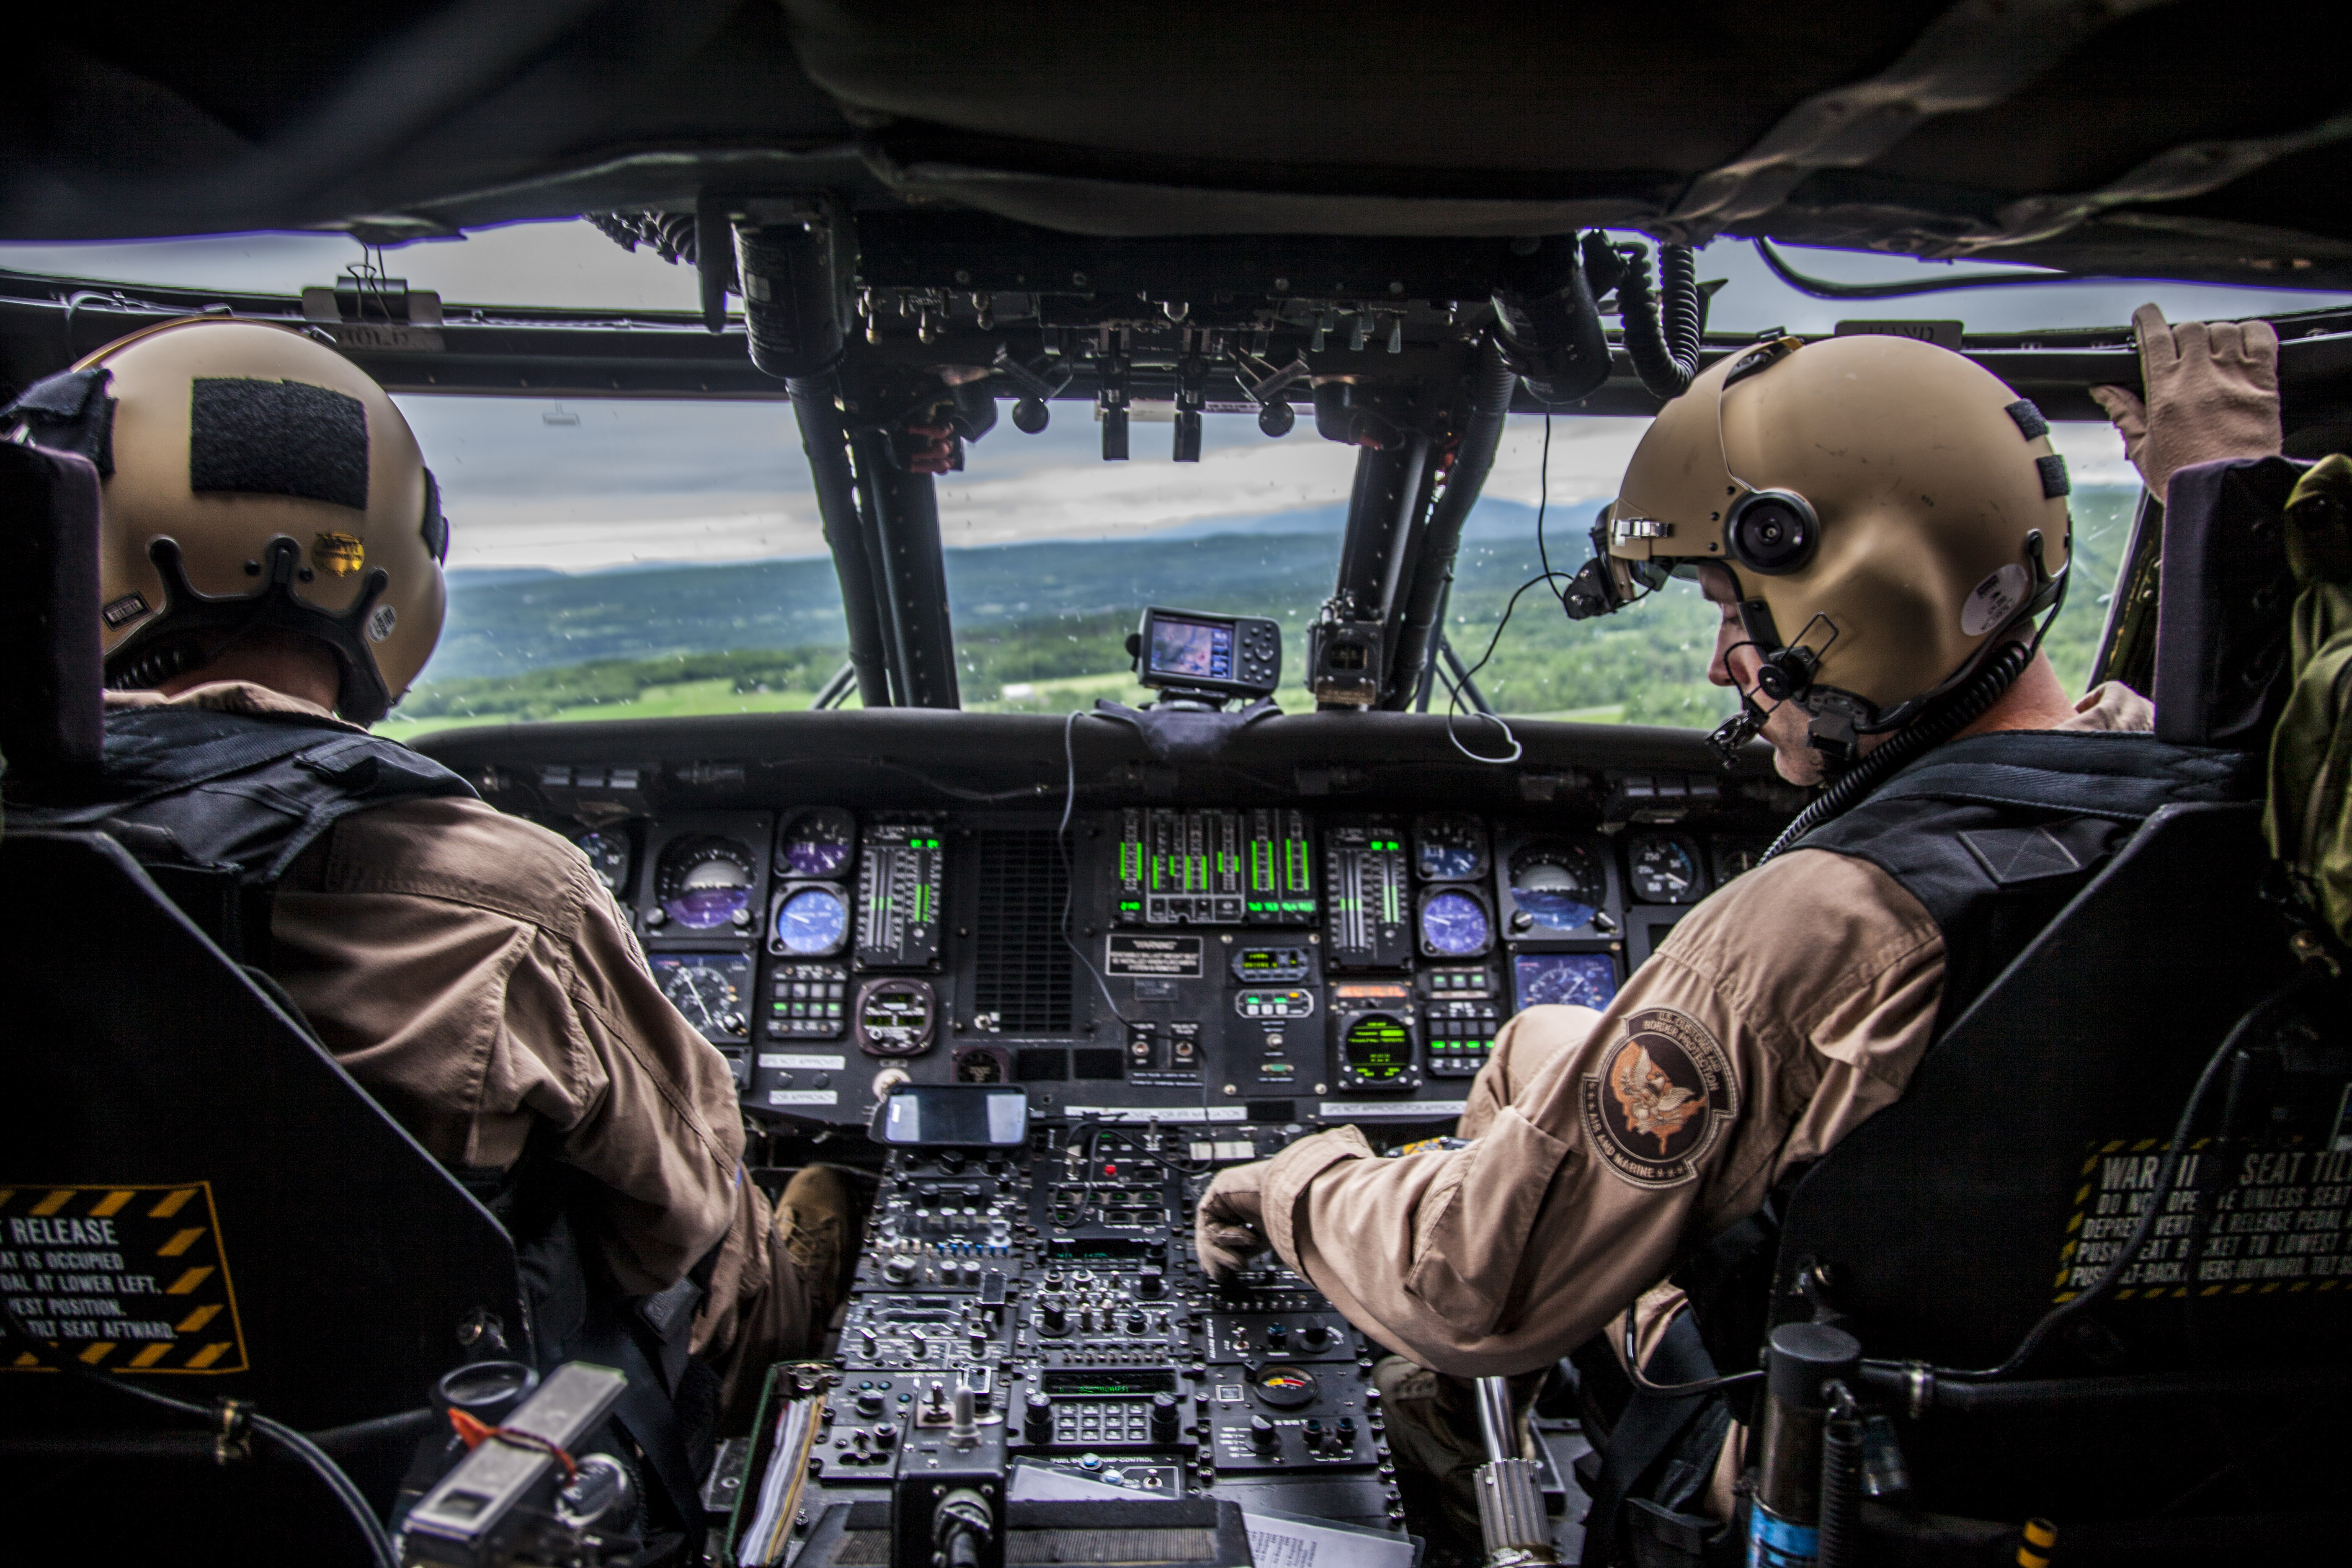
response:
<path id="1" fill-rule="evenodd" d="M 2192 463 L 2279 454 L 2279 334 L 2270 322 L 2164 324 L 2164 310 L 2131 313 L 2147 402 L 2119 386 L 2091 400 L 2124 437 L 2124 456 L 2147 494 L 2164 498 Z"/>

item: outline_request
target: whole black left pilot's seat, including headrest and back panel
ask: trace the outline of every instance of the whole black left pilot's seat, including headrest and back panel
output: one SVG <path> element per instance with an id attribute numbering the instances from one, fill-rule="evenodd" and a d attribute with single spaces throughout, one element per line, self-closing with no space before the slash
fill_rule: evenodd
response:
<path id="1" fill-rule="evenodd" d="M 96 529 L 85 458 L 0 444 L 12 804 L 75 795 L 103 750 Z M 38 1338 L 99 1375 L 313 1432 L 416 1410 L 501 1335 L 529 1354 L 501 1225 L 115 839 L 28 832 L 19 813 L 0 900 L 16 912 L 0 1293 Z M 365 1561 L 299 1467 L 134 1458 L 202 1453 L 158 1422 L 188 1425 L 0 1347 L 0 1432 L 31 1443 L 16 1458 L 47 1519 L 94 1521 L 118 1554 L 238 1540 L 256 1561 Z M 416 1432 L 336 1443 L 379 1512 Z"/>

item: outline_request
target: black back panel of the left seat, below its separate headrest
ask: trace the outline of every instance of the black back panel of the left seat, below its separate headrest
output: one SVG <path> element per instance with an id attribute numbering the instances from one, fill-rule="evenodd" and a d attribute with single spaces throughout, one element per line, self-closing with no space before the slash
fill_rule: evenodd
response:
<path id="1" fill-rule="evenodd" d="M 0 1251 L 85 1363 L 294 1427 L 412 1410 L 522 1354 L 503 1227 L 103 835 L 9 832 Z M 35 1309 L 28 1309 L 35 1307 Z M 0 1420 L 94 1392 L 0 1373 Z M 125 1410 L 103 1410 L 125 1422 Z"/>

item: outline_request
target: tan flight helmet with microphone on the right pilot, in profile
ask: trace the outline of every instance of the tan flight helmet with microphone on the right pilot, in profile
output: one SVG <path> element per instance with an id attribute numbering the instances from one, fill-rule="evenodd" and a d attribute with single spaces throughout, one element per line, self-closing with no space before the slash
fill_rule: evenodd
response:
<path id="1" fill-rule="evenodd" d="M 2065 496 L 2049 421 L 1973 360 L 1900 336 L 1778 339 L 1665 404 L 1571 614 L 1722 564 L 1757 686 L 1851 759 L 1856 736 L 1912 722 L 2058 602 Z"/>

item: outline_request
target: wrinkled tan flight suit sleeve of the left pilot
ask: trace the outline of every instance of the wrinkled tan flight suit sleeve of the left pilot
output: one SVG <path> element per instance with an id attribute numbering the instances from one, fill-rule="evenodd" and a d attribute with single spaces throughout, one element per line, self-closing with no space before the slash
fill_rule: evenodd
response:
<path id="1" fill-rule="evenodd" d="M 612 1194 L 623 1291 L 675 1284 L 727 1234 L 734 1077 L 557 835 L 475 799 L 360 811 L 280 884 L 270 931 L 327 1048 L 437 1159 L 503 1168 L 553 1128 Z"/>

